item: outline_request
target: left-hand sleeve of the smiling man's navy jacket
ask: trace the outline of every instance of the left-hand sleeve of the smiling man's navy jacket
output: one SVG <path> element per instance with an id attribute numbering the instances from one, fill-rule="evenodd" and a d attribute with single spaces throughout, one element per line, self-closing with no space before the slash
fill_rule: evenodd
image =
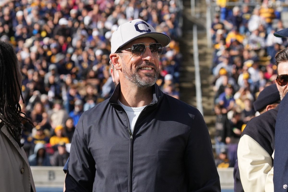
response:
<path id="1" fill-rule="evenodd" d="M 84 135 L 83 115 L 80 117 L 71 142 L 66 191 L 92 191 L 95 177 L 95 161 L 88 149 Z"/>

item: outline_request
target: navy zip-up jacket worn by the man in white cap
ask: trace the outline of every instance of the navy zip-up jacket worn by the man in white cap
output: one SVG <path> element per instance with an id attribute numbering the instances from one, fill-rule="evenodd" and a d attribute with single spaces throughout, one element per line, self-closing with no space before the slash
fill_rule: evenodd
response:
<path id="1" fill-rule="evenodd" d="M 80 117 L 66 191 L 220 191 L 208 129 L 196 108 L 155 84 L 131 134 L 119 92 L 120 83 L 110 99 Z"/>

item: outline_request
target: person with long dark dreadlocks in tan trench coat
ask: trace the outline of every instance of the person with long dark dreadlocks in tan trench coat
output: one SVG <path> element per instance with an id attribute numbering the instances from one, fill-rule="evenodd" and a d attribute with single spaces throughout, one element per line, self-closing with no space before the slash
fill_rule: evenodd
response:
<path id="1" fill-rule="evenodd" d="M 20 96 L 23 100 L 21 86 L 22 74 L 14 48 L 10 43 L 0 41 L 1 191 L 35 192 L 29 162 L 20 142 L 24 129 L 21 121 L 29 121 L 19 104 Z"/>

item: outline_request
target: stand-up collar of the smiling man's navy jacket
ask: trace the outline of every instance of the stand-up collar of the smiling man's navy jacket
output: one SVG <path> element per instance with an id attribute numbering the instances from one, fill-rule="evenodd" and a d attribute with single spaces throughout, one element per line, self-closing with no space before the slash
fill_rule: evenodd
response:
<path id="1" fill-rule="evenodd" d="M 117 106 L 119 106 L 118 98 L 119 98 L 120 90 L 121 90 L 121 85 L 120 85 L 120 83 L 118 83 L 112 96 L 109 99 L 109 103 L 116 109 L 118 109 Z M 158 85 L 156 83 L 153 85 L 152 94 L 153 94 L 153 99 L 152 99 L 151 104 L 153 104 L 153 106 L 157 107 L 160 100 L 163 98 L 164 94 L 160 90 L 160 88 L 158 87 Z"/>

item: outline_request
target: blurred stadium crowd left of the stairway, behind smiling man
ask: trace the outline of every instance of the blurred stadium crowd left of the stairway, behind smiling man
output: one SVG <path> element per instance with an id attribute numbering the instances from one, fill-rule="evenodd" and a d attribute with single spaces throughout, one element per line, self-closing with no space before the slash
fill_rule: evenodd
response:
<path id="1" fill-rule="evenodd" d="M 34 123 L 23 120 L 21 140 L 31 166 L 64 166 L 80 115 L 113 93 L 110 39 L 124 22 L 143 19 L 171 38 L 157 84 L 179 98 L 181 12 L 174 0 L 0 3 L 0 40 L 15 45 L 23 76 L 20 105 Z"/>

